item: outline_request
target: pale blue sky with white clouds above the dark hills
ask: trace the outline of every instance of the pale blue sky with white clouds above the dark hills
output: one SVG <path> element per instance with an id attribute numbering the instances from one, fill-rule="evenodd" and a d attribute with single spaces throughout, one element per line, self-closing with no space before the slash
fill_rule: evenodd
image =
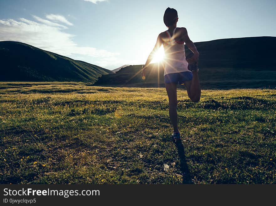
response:
<path id="1" fill-rule="evenodd" d="M 276 0 L 0 0 L 0 41 L 110 70 L 144 64 L 167 30 L 167 7 L 178 11 L 177 26 L 193 42 L 276 36 Z"/>

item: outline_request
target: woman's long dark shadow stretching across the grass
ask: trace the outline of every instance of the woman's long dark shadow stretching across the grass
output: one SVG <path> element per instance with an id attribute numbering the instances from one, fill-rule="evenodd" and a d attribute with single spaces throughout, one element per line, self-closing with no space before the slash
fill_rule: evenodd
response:
<path id="1" fill-rule="evenodd" d="M 182 144 L 181 140 L 177 140 L 174 142 L 175 146 L 177 147 L 178 150 L 178 156 L 180 159 L 180 170 L 182 172 L 183 176 L 183 184 L 193 184 L 194 182 L 191 179 L 191 174 L 187 165 L 186 157 L 185 157 L 185 151 L 184 151 L 184 146 Z"/>

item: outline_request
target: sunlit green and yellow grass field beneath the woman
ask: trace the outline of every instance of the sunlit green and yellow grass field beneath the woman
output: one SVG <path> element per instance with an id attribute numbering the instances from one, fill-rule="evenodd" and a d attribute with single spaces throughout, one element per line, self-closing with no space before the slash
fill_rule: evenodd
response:
<path id="1" fill-rule="evenodd" d="M 1 183 L 276 183 L 276 90 L 0 83 Z"/>

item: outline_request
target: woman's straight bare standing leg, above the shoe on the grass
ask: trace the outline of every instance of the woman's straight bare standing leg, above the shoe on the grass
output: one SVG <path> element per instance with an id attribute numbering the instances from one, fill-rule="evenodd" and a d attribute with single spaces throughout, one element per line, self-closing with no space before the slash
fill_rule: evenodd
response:
<path id="1" fill-rule="evenodd" d="M 169 97 L 169 115 L 173 125 L 173 132 L 178 132 L 177 126 L 177 84 L 165 83 Z"/>

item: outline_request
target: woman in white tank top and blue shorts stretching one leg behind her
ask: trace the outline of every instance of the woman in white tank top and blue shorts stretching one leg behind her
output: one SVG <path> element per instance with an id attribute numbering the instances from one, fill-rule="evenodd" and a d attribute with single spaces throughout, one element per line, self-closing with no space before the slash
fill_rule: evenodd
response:
<path id="1" fill-rule="evenodd" d="M 164 23 L 168 30 L 158 35 L 156 45 L 142 69 L 142 78 L 144 79 L 146 68 L 149 66 L 154 54 L 163 45 L 165 53 L 164 82 L 169 98 L 169 115 L 173 125 L 172 138 L 174 141 L 180 140 L 177 125 L 177 84 L 186 86 L 188 97 L 192 102 L 198 102 L 201 94 L 198 78 L 199 52 L 189 39 L 187 29 L 184 27 L 177 28 L 177 22 L 177 11 L 173 8 L 167 8 L 164 13 Z M 194 53 L 187 60 L 184 42 Z"/>

